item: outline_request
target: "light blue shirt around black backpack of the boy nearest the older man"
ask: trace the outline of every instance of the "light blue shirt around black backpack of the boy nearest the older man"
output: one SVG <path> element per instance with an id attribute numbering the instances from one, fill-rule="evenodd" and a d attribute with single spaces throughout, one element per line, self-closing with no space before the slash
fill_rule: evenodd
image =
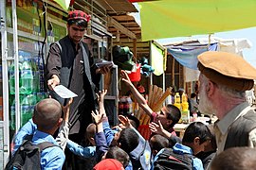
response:
<path id="1" fill-rule="evenodd" d="M 187 145 L 184 145 L 184 144 L 174 144 L 174 152 L 178 153 L 178 154 L 190 154 L 192 155 L 192 148 L 187 146 Z M 161 149 L 155 156 L 155 159 L 152 163 L 152 166 L 151 166 L 151 169 L 153 170 L 154 169 L 154 162 L 158 159 L 158 156 L 164 151 L 164 148 Z M 203 163 L 201 160 L 199 160 L 198 158 L 193 158 L 192 159 L 192 169 L 193 170 L 204 170 L 204 167 L 203 167 Z"/>

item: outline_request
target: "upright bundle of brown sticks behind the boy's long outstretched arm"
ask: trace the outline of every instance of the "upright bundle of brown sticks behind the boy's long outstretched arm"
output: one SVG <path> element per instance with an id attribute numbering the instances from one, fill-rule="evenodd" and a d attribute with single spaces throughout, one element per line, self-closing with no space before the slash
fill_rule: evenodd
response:
<path id="1" fill-rule="evenodd" d="M 171 94 L 171 90 L 171 87 L 167 88 L 165 93 L 163 93 L 162 88 L 151 85 L 148 98 L 149 107 L 155 112 L 161 110 L 165 99 L 168 97 L 168 95 Z M 140 127 L 138 128 L 138 131 L 146 140 L 148 140 L 150 137 L 149 123 L 151 117 L 147 115 L 141 108 L 138 109 L 136 117 L 140 122 Z"/>

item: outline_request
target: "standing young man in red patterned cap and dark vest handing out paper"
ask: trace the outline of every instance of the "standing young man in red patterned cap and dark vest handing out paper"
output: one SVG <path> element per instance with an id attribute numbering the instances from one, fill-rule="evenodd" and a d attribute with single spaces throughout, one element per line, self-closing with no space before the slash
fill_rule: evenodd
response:
<path id="1" fill-rule="evenodd" d="M 80 144 L 84 130 L 92 123 L 91 111 L 96 109 L 96 90 L 99 87 L 101 74 L 109 71 L 108 67 L 97 68 L 86 43 L 82 38 L 90 16 L 81 10 L 68 13 L 67 36 L 50 45 L 46 61 L 45 80 L 50 95 L 62 105 L 66 100 L 53 92 L 57 85 L 64 85 L 78 96 L 70 108 L 69 137 Z"/>

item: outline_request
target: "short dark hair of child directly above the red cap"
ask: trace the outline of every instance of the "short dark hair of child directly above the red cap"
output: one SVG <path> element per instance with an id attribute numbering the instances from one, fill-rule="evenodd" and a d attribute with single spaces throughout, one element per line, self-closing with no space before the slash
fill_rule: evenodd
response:
<path id="1" fill-rule="evenodd" d="M 123 167 L 126 167 L 130 161 L 129 155 L 119 146 L 110 147 L 106 153 L 106 159 L 118 160 L 122 163 Z"/>

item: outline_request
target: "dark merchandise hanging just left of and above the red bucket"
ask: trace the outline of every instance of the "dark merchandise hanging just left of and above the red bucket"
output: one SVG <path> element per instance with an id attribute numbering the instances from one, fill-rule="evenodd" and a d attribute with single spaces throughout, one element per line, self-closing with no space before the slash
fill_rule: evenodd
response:
<path id="1" fill-rule="evenodd" d="M 130 51 L 128 46 L 115 45 L 113 47 L 113 61 L 122 70 L 133 71 L 136 70 L 136 64 L 133 61 L 134 54 Z"/>

